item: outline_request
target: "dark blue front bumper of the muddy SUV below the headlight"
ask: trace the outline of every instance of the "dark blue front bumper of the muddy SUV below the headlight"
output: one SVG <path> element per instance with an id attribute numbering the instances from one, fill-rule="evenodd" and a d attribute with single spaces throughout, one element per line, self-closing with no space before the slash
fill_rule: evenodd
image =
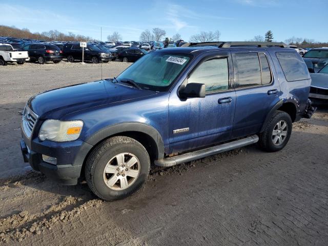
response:
<path id="1" fill-rule="evenodd" d="M 91 150 L 92 146 L 81 140 L 72 142 L 40 142 L 34 139 L 31 147 L 28 147 L 26 136 L 20 140 L 20 149 L 24 162 L 44 173 L 48 178 L 53 179 L 63 185 L 76 185 L 80 177 L 83 162 Z M 57 165 L 52 165 L 43 161 L 42 154 L 57 158 Z"/>

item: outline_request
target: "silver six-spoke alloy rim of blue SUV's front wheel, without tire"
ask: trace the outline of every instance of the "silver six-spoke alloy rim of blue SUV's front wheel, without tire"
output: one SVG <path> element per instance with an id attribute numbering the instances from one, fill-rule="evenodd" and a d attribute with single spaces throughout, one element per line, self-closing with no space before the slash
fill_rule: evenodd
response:
<path id="1" fill-rule="evenodd" d="M 107 162 L 104 169 L 104 182 L 112 190 L 125 190 L 135 182 L 139 172 L 138 158 L 131 153 L 120 153 Z"/>

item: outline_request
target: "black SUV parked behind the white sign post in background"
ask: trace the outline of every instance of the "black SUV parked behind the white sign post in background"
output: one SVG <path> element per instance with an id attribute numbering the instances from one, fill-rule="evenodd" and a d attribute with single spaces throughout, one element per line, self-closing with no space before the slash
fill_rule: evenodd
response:
<path id="1" fill-rule="evenodd" d="M 73 63 L 75 60 L 82 60 L 82 48 L 79 43 L 67 43 L 64 46 L 63 55 L 70 63 Z M 87 48 L 84 48 L 84 60 L 91 61 L 94 64 L 108 62 L 112 58 L 111 52 L 101 50 L 93 44 L 88 44 Z"/>

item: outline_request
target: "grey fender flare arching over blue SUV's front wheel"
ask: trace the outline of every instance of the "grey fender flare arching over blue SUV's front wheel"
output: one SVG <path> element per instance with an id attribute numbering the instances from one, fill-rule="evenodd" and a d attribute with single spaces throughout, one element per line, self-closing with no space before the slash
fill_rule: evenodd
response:
<path id="1" fill-rule="evenodd" d="M 150 136 L 156 145 L 156 158 L 164 156 L 164 142 L 159 132 L 152 126 L 140 122 L 124 122 L 105 127 L 85 140 L 88 144 L 95 146 L 98 142 L 119 133 L 140 132 Z"/>

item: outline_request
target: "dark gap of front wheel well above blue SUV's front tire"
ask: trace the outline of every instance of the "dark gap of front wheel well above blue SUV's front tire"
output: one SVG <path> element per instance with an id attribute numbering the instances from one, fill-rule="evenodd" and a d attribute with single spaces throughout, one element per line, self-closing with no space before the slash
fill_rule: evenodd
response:
<path id="1" fill-rule="evenodd" d="M 138 142 L 140 142 L 140 144 L 145 147 L 145 149 L 147 150 L 147 152 L 149 154 L 150 163 L 153 163 L 154 160 L 158 158 L 158 151 L 157 151 L 156 142 L 148 134 L 143 133 L 143 132 L 136 132 L 136 131 L 128 131 L 128 132 L 117 133 L 117 134 L 108 136 L 108 137 L 100 140 L 99 142 L 97 142 L 96 145 L 93 146 L 93 148 L 89 151 L 89 153 L 86 155 L 86 158 L 83 161 L 80 178 L 82 178 L 82 179 L 85 178 L 86 161 L 89 158 L 90 153 L 94 150 L 94 148 L 96 146 L 98 146 L 101 142 L 105 141 L 106 139 L 111 138 L 111 137 L 115 137 L 115 136 L 131 137 L 131 138 L 137 140 Z"/>

